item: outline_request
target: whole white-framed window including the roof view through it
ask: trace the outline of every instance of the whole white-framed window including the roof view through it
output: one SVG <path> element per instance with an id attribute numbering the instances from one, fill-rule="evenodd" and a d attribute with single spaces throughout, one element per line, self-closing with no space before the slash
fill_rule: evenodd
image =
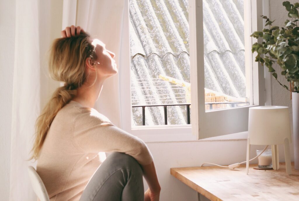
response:
<path id="1" fill-rule="evenodd" d="M 171 140 L 169 137 L 174 135 L 176 140 L 179 138 L 194 140 L 195 136 L 192 136 L 191 132 L 197 136 L 197 139 L 201 139 L 247 130 L 248 107 L 264 103 L 263 84 L 252 81 L 260 80 L 260 83 L 263 83 L 263 68 L 252 60 L 254 57 L 251 55 L 251 44 L 255 39 L 249 37 L 258 26 L 261 29 L 262 21 L 258 17 L 261 15 L 262 6 L 257 0 L 219 2 L 206 0 L 130 0 L 126 2 L 128 19 L 123 21 L 124 40 L 122 40 L 121 62 L 128 70 L 120 72 L 124 130 L 138 135 L 145 141 L 152 141 L 155 137 L 158 141 L 162 138 L 169 141 Z M 233 9 L 230 6 L 234 6 Z M 242 9 L 243 7 L 251 9 Z M 222 13 L 219 13 L 219 10 Z M 215 12 L 218 16 L 215 16 Z M 212 24 L 208 24 L 207 19 L 212 19 L 212 16 L 209 16 L 211 14 L 214 19 L 210 21 Z M 168 22 L 168 19 L 172 21 Z M 237 48 L 233 46 L 237 39 L 234 40 L 232 37 L 228 41 L 224 38 L 222 43 L 226 43 L 227 49 L 217 52 L 217 46 L 209 42 L 219 42 L 218 40 L 223 38 L 215 40 L 216 34 L 207 30 L 214 25 L 214 30 L 219 31 L 221 23 L 224 22 L 233 24 L 231 26 L 239 23 L 238 32 L 233 34 L 237 37 L 240 35 L 239 32 L 242 32 L 242 23 L 247 25 L 242 32 L 245 37 L 239 37 Z M 144 28 L 155 24 L 160 27 Z M 188 25 L 190 27 L 188 31 L 178 31 L 177 27 L 184 29 Z M 214 38 L 209 40 L 208 37 Z M 157 41 L 151 43 L 152 38 L 156 38 Z M 214 58 L 222 65 L 220 69 L 222 72 L 219 71 L 220 67 L 217 69 Z M 216 65 L 213 66 L 212 63 Z M 188 92 L 182 84 L 178 86 L 177 83 L 167 81 L 167 78 L 175 78 L 181 83 L 190 83 L 192 87 Z M 238 83 L 239 80 L 241 81 Z M 227 83 L 228 87 L 225 86 Z M 159 92 L 163 91 L 159 89 L 165 88 L 168 90 L 167 93 Z M 132 108 L 138 104 L 190 103 L 188 100 L 190 97 L 187 95 L 191 96 L 193 103 L 192 128 L 187 124 L 185 105 L 167 106 L 167 116 L 170 115 L 167 126 L 164 125 L 163 106 L 150 109 L 145 107 L 143 111 L 145 121 L 142 120 L 142 108 Z M 213 99 L 208 96 L 214 96 L 216 102 L 208 102 L 210 98 Z M 140 126 L 143 123 L 146 123 L 146 126 Z"/>

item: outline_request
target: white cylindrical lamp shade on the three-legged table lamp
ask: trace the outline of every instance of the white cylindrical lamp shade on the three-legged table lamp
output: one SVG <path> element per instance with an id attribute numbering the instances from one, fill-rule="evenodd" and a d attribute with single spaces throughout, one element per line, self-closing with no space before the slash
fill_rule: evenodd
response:
<path id="1" fill-rule="evenodd" d="M 250 144 L 283 144 L 292 142 L 289 108 L 285 106 L 258 106 L 249 108 L 248 138 Z"/>

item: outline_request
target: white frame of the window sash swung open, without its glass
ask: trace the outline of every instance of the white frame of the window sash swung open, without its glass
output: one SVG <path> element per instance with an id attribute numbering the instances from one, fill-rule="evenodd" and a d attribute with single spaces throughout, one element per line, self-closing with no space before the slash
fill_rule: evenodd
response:
<path id="1" fill-rule="evenodd" d="M 244 0 L 245 31 L 245 74 L 247 93 L 251 94 L 250 106 L 240 108 L 205 111 L 204 36 L 202 0 L 189 0 L 190 26 L 190 69 L 192 134 L 197 139 L 215 137 L 248 130 L 248 111 L 252 106 L 265 104 L 264 68 L 255 62 L 251 46 L 258 40 L 250 37 L 253 31 L 262 30 L 263 4 L 259 0 Z"/>

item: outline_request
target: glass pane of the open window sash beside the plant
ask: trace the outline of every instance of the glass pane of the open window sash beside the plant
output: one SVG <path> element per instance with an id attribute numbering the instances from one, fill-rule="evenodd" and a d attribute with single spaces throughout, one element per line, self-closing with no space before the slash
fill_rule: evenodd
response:
<path id="1" fill-rule="evenodd" d="M 203 26 L 206 111 L 249 105 L 243 0 L 203 0 Z"/>

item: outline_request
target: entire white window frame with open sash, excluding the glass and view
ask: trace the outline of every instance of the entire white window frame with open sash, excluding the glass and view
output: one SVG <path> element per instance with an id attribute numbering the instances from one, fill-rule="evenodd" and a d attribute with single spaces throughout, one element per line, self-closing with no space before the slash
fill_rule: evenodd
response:
<path id="1" fill-rule="evenodd" d="M 261 30 L 263 21 L 260 17 L 262 13 L 262 1 L 258 0 L 244 0 L 244 3 L 251 4 L 250 7 L 257 8 L 250 9 L 251 16 L 256 16 L 250 20 L 251 33 L 252 30 Z M 125 11 L 123 19 L 123 34 L 120 54 L 120 108 L 122 129 L 129 132 L 145 142 L 170 142 L 170 141 L 193 141 L 207 137 L 215 137 L 224 134 L 238 133 L 247 131 L 248 128 L 248 109 L 251 106 L 263 105 L 264 100 L 264 73 L 260 64 L 254 62 L 255 55 L 251 54 L 251 44 L 255 43 L 257 39 L 246 37 L 246 47 L 249 47 L 250 54 L 246 54 L 245 63 L 252 65 L 253 80 L 260 80 L 253 82 L 254 100 L 253 105 L 233 108 L 227 110 L 205 112 L 204 99 L 204 55 L 203 55 L 203 11 L 202 0 L 189 0 L 189 26 L 190 26 L 190 69 L 191 69 L 191 102 L 192 102 L 192 118 L 189 125 L 157 125 L 157 126 L 136 126 L 131 128 L 132 119 L 132 103 L 131 103 L 131 83 L 130 83 L 130 44 L 129 44 L 129 6 L 128 1 L 125 1 Z M 247 11 L 244 9 L 244 12 Z M 127 19 L 126 19 L 127 16 Z M 246 24 L 246 22 L 244 23 Z M 258 28 L 258 29 L 257 29 Z M 247 40 L 247 41 L 246 41 Z M 260 42 L 260 41 L 259 41 Z M 194 45 L 195 44 L 195 45 Z M 196 53 L 198 52 L 198 54 Z M 198 55 L 195 57 L 194 55 Z M 197 68 L 194 68 L 196 66 Z M 195 83 L 195 84 L 194 84 Z M 129 87 L 128 87 L 129 86 Z M 199 96 L 202 94 L 202 96 Z M 197 103 L 197 104 L 195 104 Z M 198 111 L 198 112 L 196 112 Z M 240 115 L 241 114 L 241 115 Z M 223 121 L 223 118 L 229 115 L 237 117 L 240 125 L 236 126 L 230 121 Z M 232 115 L 232 116 L 231 116 Z M 199 118 L 201 117 L 201 118 Z M 241 117 L 241 118 L 240 118 Z M 214 126 L 210 121 L 217 122 L 221 126 Z M 210 122 L 209 122 L 210 121 Z M 192 125 L 192 126 L 191 126 Z M 213 130 L 210 129 L 213 128 Z"/>

